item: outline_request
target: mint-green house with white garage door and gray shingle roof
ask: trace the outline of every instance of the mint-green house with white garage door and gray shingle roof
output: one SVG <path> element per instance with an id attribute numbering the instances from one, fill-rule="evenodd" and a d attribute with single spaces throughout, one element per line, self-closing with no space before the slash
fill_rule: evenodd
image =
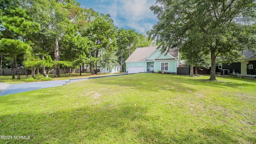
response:
<path id="1" fill-rule="evenodd" d="M 179 52 L 178 48 L 170 49 L 170 52 L 161 53 L 158 46 L 136 48 L 126 62 L 126 73 L 138 72 L 177 72 Z"/>

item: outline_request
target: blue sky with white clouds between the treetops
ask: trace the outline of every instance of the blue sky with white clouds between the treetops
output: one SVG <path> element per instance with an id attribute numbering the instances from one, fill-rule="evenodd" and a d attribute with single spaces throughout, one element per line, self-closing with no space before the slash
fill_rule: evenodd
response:
<path id="1" fill-rule="evenodd" d="M 76 0 L 82 8 L 92 8 L 102 14 L 110 14 L 115 26 L 134 29 L 146 34 L 158 22 L 149 9 L 156 0 Z"/>

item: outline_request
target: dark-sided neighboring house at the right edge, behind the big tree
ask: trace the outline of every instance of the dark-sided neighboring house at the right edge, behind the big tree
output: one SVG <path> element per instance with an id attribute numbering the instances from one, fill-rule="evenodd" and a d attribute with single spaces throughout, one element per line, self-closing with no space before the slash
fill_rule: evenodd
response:
<path id="1" fill-rule="evenodd" d="M 242 53 L 244 59 L 242 62 L 234 62 L 231 64 L 216 64 L 216 74 L 230 74 L 237 76 L 256 76 L 256 55 L 244 50 Z"/>

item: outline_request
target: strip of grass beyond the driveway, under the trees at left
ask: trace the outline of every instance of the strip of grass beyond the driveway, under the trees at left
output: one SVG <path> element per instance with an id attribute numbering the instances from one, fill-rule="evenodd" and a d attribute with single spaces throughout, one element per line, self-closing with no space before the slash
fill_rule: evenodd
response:
<path id="1" fill-rule="evenodd" d="M 115 73 L 115 74 L 121 74 L 121 73 Z M 41 76 L 42 74 L 36 74 L 35 76 Z M 107 76 L 107 75 L 113 75 L 111 73 L 102 73 L 102 74 L 95 74 L 92 75 L 91 73 L 82 73 L 80 76 L 80 73 L 72 73 L 71 77 L 69 74 L 60 74 L 60 77 L 53 77 L 53 74 L 47 74 L 49 77 L 52 77 L 54 80 L 68 80 L 70 78 L 84 78 L 84 77 L 91 77 L 91 76 Z M 31 77 L 29 75 L 28 77 Z M 12 75 L 4 75 L 0 76 L 0 82 L 8 83 L 8 84 L 20 84 L 24 83 L 26 80 L 25 75 L 20 75 L 20 80 L 17 80 L 17 75 L 15 75 L 15 79 L 12 80 Z"/>

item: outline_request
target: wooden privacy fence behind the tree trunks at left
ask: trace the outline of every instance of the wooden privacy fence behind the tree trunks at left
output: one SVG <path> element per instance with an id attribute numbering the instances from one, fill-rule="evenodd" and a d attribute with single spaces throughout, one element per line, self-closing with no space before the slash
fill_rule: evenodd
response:
<path id="1" fill-rule="evenodd" d="M 25 74 L 25 69 L 21 69 L 19 68 L 19 72 L 20 74 Z M 42 70 L 40 69 L 39 70 L 40 74 L 42 74 Z M 53 74 L 54 72 L 54 69 L 46 69 L 46 74 Z M 63 72 L 65 74 L 69 73 L 69 69 L 60 69 L 60 74 L 63 74 Z M 83 72 L 83 69 L 82 69 L 82 72 Z M 84 69 L 84 72 L 90 72 L 90 70 L 88 69 L 86 71 L 86 69 Z M 35 70 L 35 74 L 37 73 L 37 70 Z M 80 73 L 80 68 L 74 68 L 74 69 L 71 69 L 71 73 Z M 17 74 L 16 72 L 16 69 L 14 69 L 14 74 Z M 32 70 L 28 70 L 28 74 L 32 74 Z M 0 75 L 12 75 L 12 69 L 10 68 L 2 68 L 1 71 L 0 71 Z"/>

